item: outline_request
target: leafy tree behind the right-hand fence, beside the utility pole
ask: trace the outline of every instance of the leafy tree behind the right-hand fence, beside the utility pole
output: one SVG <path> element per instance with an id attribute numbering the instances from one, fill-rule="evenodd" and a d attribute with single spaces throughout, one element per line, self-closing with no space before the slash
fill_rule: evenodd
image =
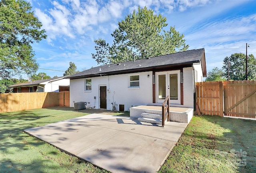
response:
<path id="1" fill-rule="evenodd" d="M 228 60 L 230 80 L 245 80 L 246 56 L 243 53 L 235 53 L 223 60 L 224 76 L 228 79 Z M 256 59 L 252 54 L 248 55 L 248 80 L 256 80 Z"/>

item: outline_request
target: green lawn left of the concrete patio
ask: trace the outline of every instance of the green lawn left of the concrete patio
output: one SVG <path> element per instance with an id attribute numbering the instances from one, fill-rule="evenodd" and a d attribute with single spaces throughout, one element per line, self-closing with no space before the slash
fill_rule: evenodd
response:
<path id="1" fill-rule="evenodd" d="M 56 147 L 31 137 L 24 129 L 88 115 L 85 110 L 52 107 L 0 114 L 1 173 L 102 173 L 89 162 L 61 152 Z M 88 110 L 92 111 L 92 110 Z M 96 111 L 96 110 L 95 110 Z M 122 113 L 115 113 L 122 114 Z"/>

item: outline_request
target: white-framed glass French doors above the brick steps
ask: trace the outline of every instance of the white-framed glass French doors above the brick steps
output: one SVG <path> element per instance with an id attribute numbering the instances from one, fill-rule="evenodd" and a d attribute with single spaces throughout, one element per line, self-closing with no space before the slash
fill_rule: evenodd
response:
<path id="1" fill-rule="evenodd" d="M 167 95 L 171 104 L 180 104 L 180 70 L 156 72 L 157 103 L 163 103 Z"/>

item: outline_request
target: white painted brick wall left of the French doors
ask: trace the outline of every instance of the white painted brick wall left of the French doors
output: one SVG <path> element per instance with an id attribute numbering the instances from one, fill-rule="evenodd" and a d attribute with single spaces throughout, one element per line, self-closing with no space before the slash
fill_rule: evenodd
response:
<path id="1" fill-rule="evenodd" d="M 129 76 L 140 76 L 140 88 L 129 88 Z M 149 78 L 147 77 L 148 75 Z M 108 84 L 109 78 L 109 84 Z M 116 109 L 119 110 L 119 104 L 124 105 L 127 111 L 131 106 L 147 105 L 152 103 L 152 72 L 140 72 L 134 74 L 122 74 L 114 76 L 95 77 L 92 79 L 92 91 L 84 91 L 84 80 L 70 80 L 70 107 L 74 107 L 74 103 L 78 101 L 90 102 L 90 106 L 99 108 L 99 86 L 110 88 L 107 92 L 107 109 L 112 110 L 112 102 L 116 101 Z M 94 100 L 94 96 L 96 99 Z M 113 101 L 114 96 L 114 101 Z"/>

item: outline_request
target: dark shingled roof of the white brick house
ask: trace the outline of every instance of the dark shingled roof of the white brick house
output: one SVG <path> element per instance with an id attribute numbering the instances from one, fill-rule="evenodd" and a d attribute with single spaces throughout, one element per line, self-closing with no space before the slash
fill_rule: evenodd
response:
<path id="1" fill-rule="evenodd" d="M 205 54 L 204 48 L 202 48 L 196 50 L 188 50 L 184 52 L 177 52 L 174 54 L 156 56 L 152 58 L 144 58 L 141 60 L 98 66 L 74 75 L 70 75 L 66 78 L 79 79 L 96 77 L 101 75 L 143 72 L 149 70 L 156 70 L 159 68 L 188 66 L 200 62 L 202 65 L 203 76 L 206 77 Z"/>

